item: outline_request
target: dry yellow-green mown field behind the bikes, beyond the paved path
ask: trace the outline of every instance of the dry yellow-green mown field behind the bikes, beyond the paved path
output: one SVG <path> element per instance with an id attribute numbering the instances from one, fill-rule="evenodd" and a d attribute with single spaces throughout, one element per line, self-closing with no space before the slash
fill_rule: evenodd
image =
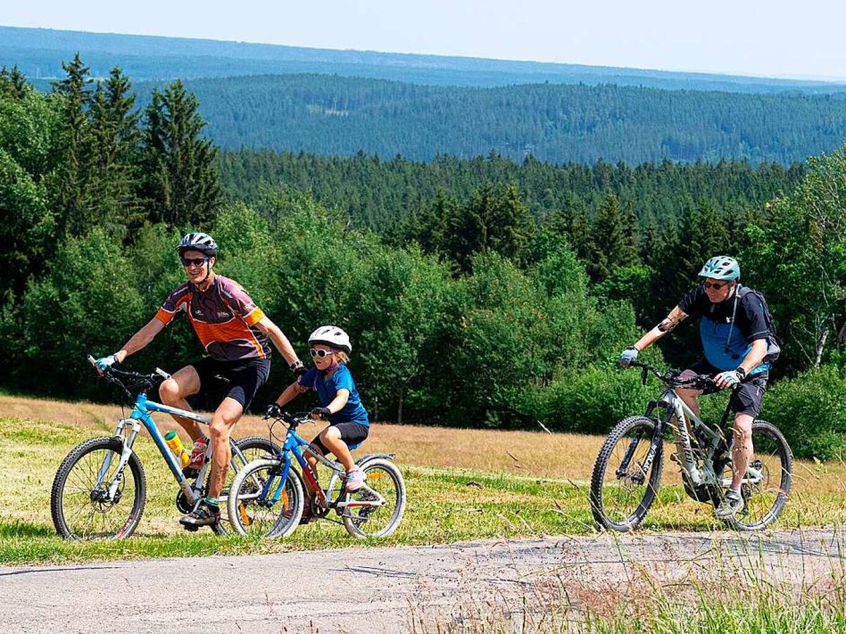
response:
<path id="1" fill-rule="evenodd" d="M 0 396 L 0 564 L 69 560 L 279 552 L 354 546 L 343 527 L 317 522 L 285 540 L 218 538 L 185 533 L 173 504 L 176 484 L 148 438 L 135 450 L 144 464 L 147 503 L 132 538 L 69 543 L 50 519 L 52 479 L 63 457 L 87 438 L 110 435 L 120 407 Z M 173 429 L 158 415 L 162 429 Z M 308 438 L 317 428 L 302 429 Z M 236 435 L 266 435 L 246 417 Z M 408 506 L 403 523 L 380 544 L 442 544 L 479 538 L 589 534 L 596 531 L 587 481 L 602 438 L 480 429 L 377 424 L 360 451 L 392 451 L 403 469 Z M 708 530 L 709 507 L 689 500 L 672 463 L 643 529 Z M 797 462 L 794 491 L 777 526 L 846 522 L 846 465 Z"/>

